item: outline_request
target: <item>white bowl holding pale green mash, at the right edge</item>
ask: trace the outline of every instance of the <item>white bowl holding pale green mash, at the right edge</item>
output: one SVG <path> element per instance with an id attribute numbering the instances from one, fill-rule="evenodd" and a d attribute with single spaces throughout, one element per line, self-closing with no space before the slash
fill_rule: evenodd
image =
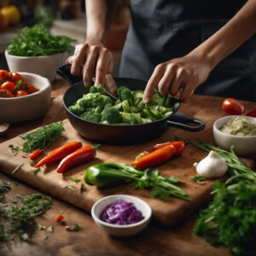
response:
<path id="1" fill-rule="evenodd" d="M 236 154 L 240 156 L 248 156 L 256 154 L 256 136 L 241 137 L 228 133 L 224 133 L 219 129 L 225 125 L 229 119 L 236 117 L 236 115 L 229 115 L 223 118 L 217 119 L 213 124 L 213 136 L 219 147 L 225 150 L 230 150 L 230 146 L 235 146 Z M 256 118 L 246 117 L 251 123 L 256 123 Z"/>

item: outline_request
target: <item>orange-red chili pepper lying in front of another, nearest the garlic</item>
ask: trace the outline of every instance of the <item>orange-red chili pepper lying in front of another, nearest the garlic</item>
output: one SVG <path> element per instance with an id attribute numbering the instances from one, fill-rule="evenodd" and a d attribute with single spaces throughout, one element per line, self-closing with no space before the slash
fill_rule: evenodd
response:
<path id="1" fill-rule="evenodd" d="M 167 145 L 164 148 L 154 150 L 149 154 L 145 154 L 142 157 L 134 161 L 134 165 L 143 170 L 150 166 L 159 165 L 166 160 L 170 159 L 172 155 L 176 153 L 176 148 L 173 145 Z"/>

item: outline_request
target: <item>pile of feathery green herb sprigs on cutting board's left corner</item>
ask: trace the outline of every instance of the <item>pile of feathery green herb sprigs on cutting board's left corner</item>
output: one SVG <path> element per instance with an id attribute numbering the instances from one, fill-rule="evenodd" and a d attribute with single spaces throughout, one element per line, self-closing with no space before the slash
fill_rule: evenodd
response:
<path id="1" fill-rule="evenodd" d="M 51 125 L 44 125 L 36 131 L 20 135 L 25 143 L 22 145 L 22 151 L 31 153 L 36 149 L 44 149 L 54 142 L 61 132 L 65 131 L 63 123 L 54 123 Z"/>

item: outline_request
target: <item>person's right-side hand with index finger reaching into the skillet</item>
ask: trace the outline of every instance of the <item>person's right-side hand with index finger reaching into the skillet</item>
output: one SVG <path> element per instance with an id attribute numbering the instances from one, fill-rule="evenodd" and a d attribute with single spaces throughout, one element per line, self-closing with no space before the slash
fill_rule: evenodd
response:
<path id="1" fill-rule="evenodd" d="M 157 87 L 163 96 L 180 94 L 180 100 L 186 102 L 199 84 L 207 80 L 212 68 L 206 58 L 200 55 L 186 55 L 159 64 L 148 80 L 143 102 L 148 103 Z"/>

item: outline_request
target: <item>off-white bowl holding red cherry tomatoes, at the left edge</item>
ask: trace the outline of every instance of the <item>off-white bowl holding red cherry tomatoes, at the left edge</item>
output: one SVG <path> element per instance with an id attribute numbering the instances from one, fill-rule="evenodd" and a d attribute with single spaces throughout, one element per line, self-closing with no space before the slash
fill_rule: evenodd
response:
<path id="1" fill-rule="evenodd" d="M 44 115 L 50 103 L 49 79 L 33 73 L 20 72 L 27 84 L 32 84 L 39 91 L 27 96 L 0 97 L 0 124 L 18 123 Z"/>

